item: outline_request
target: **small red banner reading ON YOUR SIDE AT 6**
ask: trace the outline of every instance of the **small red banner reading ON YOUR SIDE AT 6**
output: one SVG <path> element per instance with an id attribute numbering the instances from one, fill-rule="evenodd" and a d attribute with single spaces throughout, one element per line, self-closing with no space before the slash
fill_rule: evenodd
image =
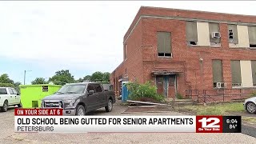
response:
<path id="1" fill-rule="evenodd" d="M 14 115 L 62 115 L 62 109 L 15 109 Z"/>

